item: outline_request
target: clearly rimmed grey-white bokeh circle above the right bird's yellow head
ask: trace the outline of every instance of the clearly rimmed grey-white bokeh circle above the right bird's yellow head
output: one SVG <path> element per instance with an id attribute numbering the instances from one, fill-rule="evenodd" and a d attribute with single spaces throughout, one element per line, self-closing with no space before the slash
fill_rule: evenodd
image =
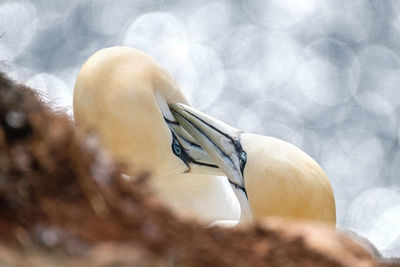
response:
<path id="1" fill-rule="evenodd" d="M 297 83 L 304 95 L 327 106 L 348 101 L 356 92 L 359 80 L 357 56 L 344 43 L 335 40 L 321 39 L 307 46 L 297 68 Z"/>

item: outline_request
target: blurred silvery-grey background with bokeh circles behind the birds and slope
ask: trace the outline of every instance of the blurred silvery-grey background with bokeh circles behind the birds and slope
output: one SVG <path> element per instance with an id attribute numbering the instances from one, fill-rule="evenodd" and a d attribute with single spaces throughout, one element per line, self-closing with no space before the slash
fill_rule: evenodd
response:
<path id="1" fill-rule="evenodd" d="M 0 71 L 70 115 L 79 68 L 114 45 L 196 108 L 305 150 L 338 226 L 400 257 L 400 1 L 0 0 Z"/>

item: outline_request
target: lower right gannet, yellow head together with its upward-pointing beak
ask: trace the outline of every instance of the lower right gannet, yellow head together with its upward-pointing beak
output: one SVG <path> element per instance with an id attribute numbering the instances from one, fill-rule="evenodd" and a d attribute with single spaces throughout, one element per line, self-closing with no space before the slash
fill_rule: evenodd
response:
<path id="1" fill-rule="evenodd" d="M 169 107 L 229 179 L 241 207 L 239 224 L 278 216 L 336 225 L 330 181 L 300 148 L 245 133 L 184 103 Z"/>

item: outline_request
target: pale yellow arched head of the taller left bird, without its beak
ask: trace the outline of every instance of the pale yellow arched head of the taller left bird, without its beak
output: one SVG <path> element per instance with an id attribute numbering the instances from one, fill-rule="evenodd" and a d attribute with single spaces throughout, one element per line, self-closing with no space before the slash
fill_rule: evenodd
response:
<path id="1" fill-rule="evenodd" d="M 189 104 L 175 80 L 151 57 L 127 47 L 98 51 L 82 66 L 74 90 L 74 119 L 96 133 L 114 157 L 154 175 L 183 173 L 171 152 L 169 102 Z"/>

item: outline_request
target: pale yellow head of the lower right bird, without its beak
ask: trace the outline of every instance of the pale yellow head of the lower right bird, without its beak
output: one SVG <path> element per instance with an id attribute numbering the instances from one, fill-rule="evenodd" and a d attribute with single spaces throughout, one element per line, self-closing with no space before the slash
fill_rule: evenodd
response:
<path id="1" fill-rule="evenodd" d="M 280 216 L 336 222 L 335 199 L 322 168 L 299 148 L 277 138 L 244 133 L 243 177 L 255 219 Z"/>

